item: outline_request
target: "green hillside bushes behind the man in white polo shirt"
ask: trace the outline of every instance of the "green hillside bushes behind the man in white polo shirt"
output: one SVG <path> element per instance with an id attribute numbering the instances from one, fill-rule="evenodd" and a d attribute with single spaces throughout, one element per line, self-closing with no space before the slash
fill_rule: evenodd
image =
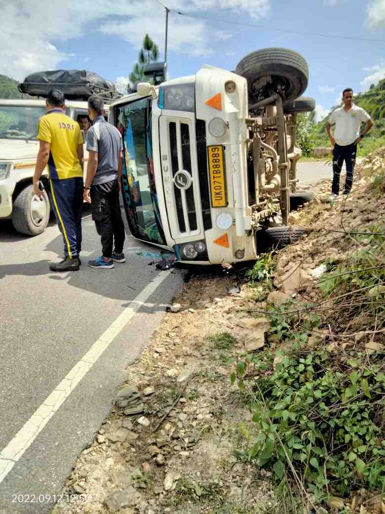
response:
<path id="1" fill-rule="evenodd" d="M 385 79 L 377 85 L 372 85 L 369 91 L 359 93 L 354 97 L 354 103 L 359 105 L 371 115 L 374 126 L 367 136 L 359 144 L 358 155 L 366 156 L 373 150 L 385 145 Z M 331 110 L 338 107 L 334 106 Z M 326 134 L 328 116 L 314 126 L 314 138 L 316 146 L 330 146 L 329 137 Z"/>

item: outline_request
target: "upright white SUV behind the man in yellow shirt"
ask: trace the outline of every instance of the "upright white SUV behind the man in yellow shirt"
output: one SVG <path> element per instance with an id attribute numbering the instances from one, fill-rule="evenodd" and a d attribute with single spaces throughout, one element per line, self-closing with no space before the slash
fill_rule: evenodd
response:
<path id="1" fill-rule="evenodd" d="M 11 218 L 15 229 L 26 235 L 44 232 L 50 204 L 44 191 L 42 200 L 33 194 L 32 177 L 39 143 L 37 123 L 46 112 L 45 100 L 0 100 L 0 221 Z M 87 102 L 66 102 L 73 120 L 87 114 Z M 85 151 L 86 171 L 87 155 Z M 47 170 L 42 181 L 47 180 Z"/>

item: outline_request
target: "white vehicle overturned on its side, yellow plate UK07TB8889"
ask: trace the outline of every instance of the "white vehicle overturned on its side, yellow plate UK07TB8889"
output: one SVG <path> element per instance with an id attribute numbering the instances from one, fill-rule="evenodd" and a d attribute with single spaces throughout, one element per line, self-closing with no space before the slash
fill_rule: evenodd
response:
<path id="1" fill-rule="evenodd" d="M 287 218 L 311 200 L 296 189 L 296 113 L 315 107 L 300 98 L 308 79 L 297 52 L 266 48 L 235 72 L 205 65 L 113 102 L 132 234 L 195 264 L 253 260 L 297 240 Z"/>

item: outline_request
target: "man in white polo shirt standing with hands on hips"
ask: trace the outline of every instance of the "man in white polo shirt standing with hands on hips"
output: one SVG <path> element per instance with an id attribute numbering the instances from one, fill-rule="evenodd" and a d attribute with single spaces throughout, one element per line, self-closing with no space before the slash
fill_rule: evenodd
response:
<path id="1" fill-rule="evenodd" d="M 353 103 L 353 89 L 350 87 L 342 91 L 342 107 L 338 107 L 330 115 L 326 132 L 333 146 L 333 183 L 332 197 L 338 198 L 339 177 L 343 161 L 346 165 L 346 181 L 343 194 L 350 193 L 353 183 L 353 171 L 356 163 L 357 143 L 372 128 L 373 121 L 367 112 Z M 360 126 L 366 122 L 360 133 Z M 334 136 L 332 125 L 336 125 Z"/>

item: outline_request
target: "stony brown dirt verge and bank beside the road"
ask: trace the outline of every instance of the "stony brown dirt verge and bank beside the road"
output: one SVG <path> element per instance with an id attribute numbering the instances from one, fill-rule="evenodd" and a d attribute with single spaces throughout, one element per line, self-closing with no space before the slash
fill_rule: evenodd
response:
<path id="1" fill-rule="evenodd" d="M 306 335 L 308 350 L 317 345 L 349 350 L 351 338 L 341 340 L 341 330 L 353 333 L 352 344 L 363 349 L 371 340 L 382 344 L 377 336 L 354 337 L 378 328 L 376 320 L 358 321 L 354 307 L 336 313 L 330 298 L 321 295 L 314 271 L 325 261 L 341 263 L 353 251 L 369 249 L 370 236 L 354 232 L 373 232 L 385 216 L 385 197 L 378 193 L 383 181 L 365 178 L 381 168 L 384 150 L 360 164 L 354 191 L 334 203 L 326 200 L 329 180 L 314 188 L 315 203 L 292 215 L 292 222 L 310 231 L 279 252 L 271 282 L 251 287 L 244 270 L 231 267 L 191 273 L 175 299 L 179 311 L 165 315 L 129 367 L 109 416 L 66 481 L 64 490 L 78 501 L 57 504 L 55 514 L 282 511 L 287 494 L 277 492 L 274 472 L 251 457 L 258 434 L 249 409 L 252 388 L 242 393 L 230 374 L 241 356 L 273 355 L 281 347 L 277 333 L 269 331 L 266 309 L 287 300 L 311 302 L 323 318 L 329 313 L 320 336 Z M 260 377 L 255 366 L 248 381 Z M 309 489 L 299 500 L 310 509 L 315 501 Z M 361 488 L 329 500 L 320 512 L 343 508 L 362 514 L 380 513 L 385 506 L 378 491 Z"/>

